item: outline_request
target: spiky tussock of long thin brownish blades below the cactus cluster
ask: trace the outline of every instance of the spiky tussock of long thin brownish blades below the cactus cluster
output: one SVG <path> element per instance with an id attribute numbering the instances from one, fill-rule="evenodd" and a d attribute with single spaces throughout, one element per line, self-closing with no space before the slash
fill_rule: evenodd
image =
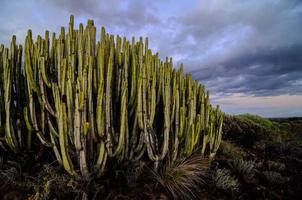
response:
<path id="1" fill-rule="evenodd" d="M 150 170 L 151 178 L 175 199 L 196 199 L 198 189 L 207 181 L 209 159 L 193 155 L 166 163 L 159 171 Z"/>

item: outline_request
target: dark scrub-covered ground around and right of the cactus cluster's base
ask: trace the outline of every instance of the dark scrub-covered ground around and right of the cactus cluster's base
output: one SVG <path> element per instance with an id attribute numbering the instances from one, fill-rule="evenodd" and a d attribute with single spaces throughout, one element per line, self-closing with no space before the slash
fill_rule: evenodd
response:
<path id="1" fill-rule="evenodd" d="M 0 199 L 300 199 L 302 118 L 226 116 L 223 129 L 215 160 L 202 161 L 198 171 L 188 170 L 201 162 L 196 158 L 167 164 L 161 174 L 148 163 L 111 163 L 115 170 L 105 176 L 79 181 L 50 164 L 52 155 L 42 146 L 35 155 L 0 152 Z M 200 184 L 180 191 L 168 177 L 186 173 L 200 175 L 186 179 Z"/>

